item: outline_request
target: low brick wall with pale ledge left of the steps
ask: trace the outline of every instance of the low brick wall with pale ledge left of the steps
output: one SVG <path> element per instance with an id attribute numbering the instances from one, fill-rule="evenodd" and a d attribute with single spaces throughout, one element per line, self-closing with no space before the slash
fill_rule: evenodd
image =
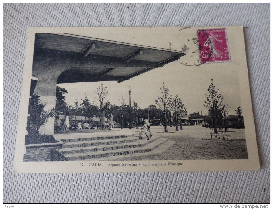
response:
<path id="1" fill-rule="evenodd" d="M 28 144 L 26 146 L 27 153 L 24 155 L 23 162 L 30 161 L 46 161 L 52 148 L 60 149 L 64 142 Z"/>

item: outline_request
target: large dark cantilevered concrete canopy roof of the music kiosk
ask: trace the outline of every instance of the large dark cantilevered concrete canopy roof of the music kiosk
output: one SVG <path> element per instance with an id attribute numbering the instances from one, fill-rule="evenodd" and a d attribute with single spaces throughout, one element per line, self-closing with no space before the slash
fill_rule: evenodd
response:
<path id="1" fill-rule="evenodd" d="M 185 54 L 65 33 L 36 33 L 33 66 L 39 62 L 56 63 L 62 68 L 57 83 L 122 82 Z M 37 69 L 33 67 L 33 76 L 38 77 Z"/>

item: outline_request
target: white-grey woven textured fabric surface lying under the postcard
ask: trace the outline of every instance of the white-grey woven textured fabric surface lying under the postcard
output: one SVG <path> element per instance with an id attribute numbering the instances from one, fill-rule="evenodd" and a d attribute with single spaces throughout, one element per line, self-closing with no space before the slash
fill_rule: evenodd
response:
<path id="1" fill-rule="evenodd" d="M 28 27 L 243 25 L 261 170 L 15 174 Z M 4 3 L 3 203 L 269 203 L 270 4 Z"/>

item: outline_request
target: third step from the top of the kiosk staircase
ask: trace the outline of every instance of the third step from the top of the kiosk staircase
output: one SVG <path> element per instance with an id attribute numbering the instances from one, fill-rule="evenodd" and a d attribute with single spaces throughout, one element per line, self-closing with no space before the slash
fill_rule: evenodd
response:
<path id="1" fill-rule="evenodd" d="M 151 138 L 150 140 L 138 139 L 138 141 L 132 141 L 127 143 L 95 145 L 95 146 L 92 145 L 94 144 L 94 142 L 92 141 L 91 143 L 84 143 L 84 144 L 87 144 L 87 146 L 62 148 L 62 149 L 59 149 L 58 151 L 61 154 L 65 155 L 65 154 L 74 154 L 74 153 L 99 152 L 99 151 L 111 151 L 111 150 L 118 150 L 118 149 L 137 148 L 137 147 L 144 147 L 145 145 L 152 143 L 158 138 L 159 136 L 155 136 Z M 118 142 L 122 142 L 122 141 L 118 141 Z"/>

